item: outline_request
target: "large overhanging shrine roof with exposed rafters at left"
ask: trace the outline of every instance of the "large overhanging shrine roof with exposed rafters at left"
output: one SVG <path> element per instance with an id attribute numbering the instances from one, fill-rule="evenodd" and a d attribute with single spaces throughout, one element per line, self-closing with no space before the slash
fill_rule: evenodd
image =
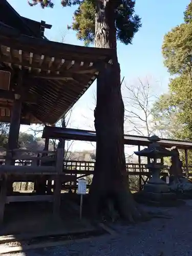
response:
<path id="1" fill-rule="evenodd" d="M 112 49 L 61 44 L 23 35 L 0 23 L 0 69 L 11 72 L 9 91 L 0 90 L 0 106 L 11 107 L 14 93 L 22 93 L 23 118 L 29 123 L 54 124 L 96 79 Z M 23 73 L 23 89 L 15 77 Z M 13 92 L 14 91 L 14 92 Z M 9 116 L 6 120 L 9 121 Z M 3 119 L 2 119 L 3 121 Z"/>

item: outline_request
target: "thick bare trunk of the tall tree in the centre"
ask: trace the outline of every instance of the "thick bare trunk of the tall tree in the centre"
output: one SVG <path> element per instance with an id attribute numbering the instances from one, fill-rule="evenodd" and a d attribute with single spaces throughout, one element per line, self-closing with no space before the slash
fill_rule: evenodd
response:
<path id="1" fill-rule="evenodd" d="M 99 2 L 96 11 L 95 46 L 116 49 L 114 6 Z M 120 66 L 117 51 L 97 78 L 97 105 L 94 112 L 97 134 L 96 164 L 90 188 L 92 215 L 97 216 L 103 203 L 113 202 L 121 217 L 133 221 L 140 216 L 129 190 L 125 169 Z"/>

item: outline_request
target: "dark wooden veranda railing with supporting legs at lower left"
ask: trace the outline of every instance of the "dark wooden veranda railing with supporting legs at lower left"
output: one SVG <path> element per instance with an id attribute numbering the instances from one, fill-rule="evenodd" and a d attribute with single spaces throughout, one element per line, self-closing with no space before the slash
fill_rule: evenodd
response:
<path id="1" fill-rule="evenodd" d="M 66 174 L 63 170 L 63 148 L 58 148 L 54 151 L 29 151 L 15 149 L 6 151 L 0 149 L 0 222 L 3 221 L 4 208 L 6 203 L 10 202 L 25 202 L 25 201 L 53 201 L 53 212 L 58 214 L 61 195 L 61 182 Z M 35 196 L 8 196 L 8 185 L 12 184 L 13 177 L 17 176 L 20 180 L 29 176 L 44 176 L 52 175 L 54 180 L 53 195 L 35 195 Z M 39 177 L 39 178 L 40 178 Z M 27 178 L 28 179 L 28 178 Z"/>

